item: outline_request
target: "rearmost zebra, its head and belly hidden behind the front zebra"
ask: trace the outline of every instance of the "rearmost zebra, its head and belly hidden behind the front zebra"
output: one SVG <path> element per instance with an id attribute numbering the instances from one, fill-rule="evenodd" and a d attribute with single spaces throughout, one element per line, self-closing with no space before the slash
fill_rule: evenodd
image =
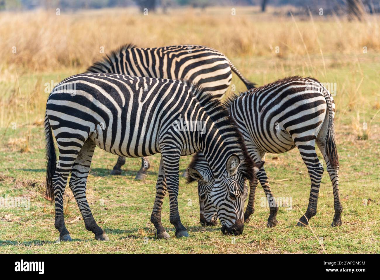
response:
<path id="1" fill-rule="evenodd" d="M 221 99 L 230 86 L 231 70 L 242 80 L 248 89 L 254 83 L 244 78 L 239 70 L 217 50 L 206 46 L 179 45 L 161 48 L 137 48 L 124 45 L 112 51 L 107 58 L 98 61 L 87 69 L 90 73 L 117 73 L 138 77 L 188 79 L 203 86 L 216 98 Z M 111 175 L 121 174 L 125 157 L 119 157 Z M 145 179 L 150 164 L 147 157 L 141 158 L 141 168 L 136 179 Z"/>

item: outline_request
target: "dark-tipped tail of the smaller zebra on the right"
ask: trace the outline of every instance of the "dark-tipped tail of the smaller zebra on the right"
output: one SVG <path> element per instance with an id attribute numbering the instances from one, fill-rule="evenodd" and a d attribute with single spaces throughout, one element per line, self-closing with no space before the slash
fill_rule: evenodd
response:
<path id="1" fill-rule="evenodd" d="M 335 125 L 334 117 L 332 114 L 332 105 L 329 92 L 325 89 L 323 92 L 325 96 L 327 109 L 329 114 L 328 130 L 326 134 L 326 154 L 329 157 L 330 164 L 333 168 L 339 168 L 338 151 L 335 143 Z"/>

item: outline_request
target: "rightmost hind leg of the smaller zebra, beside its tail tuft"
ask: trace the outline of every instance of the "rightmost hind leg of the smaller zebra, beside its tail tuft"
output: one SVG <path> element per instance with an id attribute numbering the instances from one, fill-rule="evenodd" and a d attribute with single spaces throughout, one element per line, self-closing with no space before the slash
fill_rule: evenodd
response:
<path id="1" fill-rule="evenodd" d="M 319 135 L 318 135 L 319 138 Z M 332 221 L 331 226 L 336 227 L 336 226 L 341 226 L 342 225 L 342 217 L 341 213 L 343 211 L 342 203 L 340 203 L 340 195 L 339 195 L 339 166 L 337 168 L 334 168 L 330 164 L 330 160 L 328 155 L 326 154 L 325 150 L 325 142 L 324 141 L 318 141 L 319 139 L 317 138 L 317 145 L 318 148 L 320 149 L 323 158 L 325 159 L 326 162 L 326 169 L 327 172 L 329 173 L 330 180 L 332 182 L 332 193 L 334 195 L 334 219 Z"/>

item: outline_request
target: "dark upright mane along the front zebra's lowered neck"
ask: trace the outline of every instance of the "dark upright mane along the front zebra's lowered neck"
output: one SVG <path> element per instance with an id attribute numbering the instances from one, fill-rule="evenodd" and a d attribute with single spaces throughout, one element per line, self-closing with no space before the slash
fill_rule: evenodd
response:
<path id="1" fill-rule="evenodd" d="M 185 84 L 189 84 L 189 81 L 182 80 Z M 236 146 L 239 147 L 238 152 L 236 154 L 241 159 L 241 164 L 239 166 L 239 171 L 242 172 L 245 179 L 252 180 L 253 179 L 253 160 L 249 156 L 247 152 L 247 148 L 245 147 L 244 139 L 240 131 L 237 129 L 237 125 L 235 120 L 230 116 L 226 106 L 218 99 L 215 98 L 212 94 L 204 90 L 202 86 L 197 85 L 196 83 L 190 83 L 190 89 L 195 97 L 198 99 L 199 104 L 215 125 L 222 131 L 223 134 L 227 135 L 235 135 L 231 136 L 223 136 L 226 141 L 235 142 Z M 192 162 L 190 163 L 190 167 L 194 168 L 196 163 L 199 161 L 200 155 L 196 153 L 193 155 Z M 190 179 L 187 182 L 192 182 Z"/>

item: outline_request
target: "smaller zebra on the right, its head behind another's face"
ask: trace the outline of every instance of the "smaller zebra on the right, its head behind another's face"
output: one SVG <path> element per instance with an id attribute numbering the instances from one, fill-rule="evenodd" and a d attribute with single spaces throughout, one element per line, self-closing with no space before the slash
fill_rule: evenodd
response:
<path id="1" fill-rule="evenodd" d="M 260 165 L 264 164 L 266 153 L 279 154 L 297 147 L 311 181 L 309 205 L 297 226 L 309 224 L 309 219 L 317 213 L 318 193 L 324 171 L 315 151 L 316 143 L 332 182 L 335 214 L 331 226 L 340 226 L 343 208 L 339 195 L 339 159 L 335 143 L 335 104 L 329 91 L 314 78 L 294 76 L 230 97 L 224 104 L 237 123 L 247 151 L 257 168 L 253 181 L 250 181 L 244 221 L 249 222 L 255 210 L 255 191 L 260 181 L 270 206 L 267 226 L 276 226 L 278 206 L 265 169 Z M 212 173 L 205 161 L 202 169 L 203 173 L 208 174 L 204 176 L 207 179 L 201 180 L 189 173 L 187 181 L 198 181 L 201 224 L 215 225 L 217 213 L 209 197 L 212 186 L 212 179 L 209 178 Z"/>

